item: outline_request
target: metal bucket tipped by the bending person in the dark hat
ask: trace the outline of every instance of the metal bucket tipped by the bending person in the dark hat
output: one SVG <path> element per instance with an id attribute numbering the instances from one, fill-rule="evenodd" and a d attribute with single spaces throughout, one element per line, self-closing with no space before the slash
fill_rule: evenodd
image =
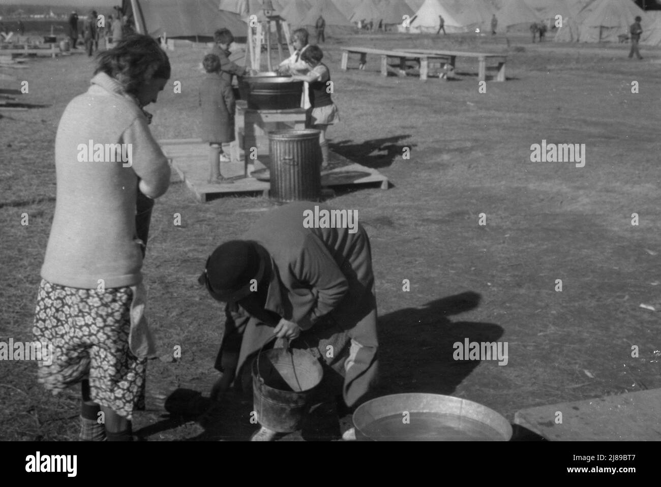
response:
<path id="1" fill-rule="evenodd" d="M 258 422 L 278 433 L 299 430 L 308 399 L 322 377 L 321 364 L 305 350 L 260 352 L 253 361 L 253 407 Z"/>

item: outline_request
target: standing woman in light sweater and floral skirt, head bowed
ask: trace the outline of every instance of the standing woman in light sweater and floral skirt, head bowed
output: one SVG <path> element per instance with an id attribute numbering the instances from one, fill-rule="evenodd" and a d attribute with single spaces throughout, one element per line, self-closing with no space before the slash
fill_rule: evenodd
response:
<path id="1" fill-rule="evenodd" d="M 146 237 L 136 202 L 164 194 L 170 168 L 142 107 L 169 77 L 157 42 L 129 36 L 98 56 L 91 87 L 59 121 L 57 200 L 33 332 L 55 352 L 50 365 L 39 362 L 39 382 L 54 394 L 81 383 L 81 439 L 130 441 L 132 411 L 144 401 L 155 350 L 142 315 L 138 237 Z"/>

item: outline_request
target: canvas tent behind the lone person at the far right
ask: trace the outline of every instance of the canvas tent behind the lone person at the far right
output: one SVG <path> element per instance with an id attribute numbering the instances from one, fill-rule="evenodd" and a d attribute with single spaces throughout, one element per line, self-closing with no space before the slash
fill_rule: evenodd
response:
<path id="1" fill-rule="evenodd" d="M 578 40 L 617 42 L 617 36 L 629 34 L 629 26 L 637 15 L 645 19 L 644 11 L 632 0 L 598 0 L 594 10 L 580 24 Z"/>

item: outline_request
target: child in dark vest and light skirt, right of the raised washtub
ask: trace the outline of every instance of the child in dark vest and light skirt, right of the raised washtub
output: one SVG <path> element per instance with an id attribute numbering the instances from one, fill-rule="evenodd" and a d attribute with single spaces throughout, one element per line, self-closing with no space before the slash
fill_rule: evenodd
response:
<path id="1" fill-rule="evenodd" d="M 340 112 L 331 99 L 331 71 L 321 62 L 324 57 L 319 46 L 309 46 L 301 54 L 301 60 L 310 67 L 307 75 L 293 75 L 293 79 L 301 79 L 309 83 L 309 97 L 311 108 L 308 110 L 309 123 L 307 126 L 317 129 L 319 145 L 321 146 L 322 168 L 329 165 L 329 143 L 326 140 L 326 130 L 329 125 L 340 121 Z"/>

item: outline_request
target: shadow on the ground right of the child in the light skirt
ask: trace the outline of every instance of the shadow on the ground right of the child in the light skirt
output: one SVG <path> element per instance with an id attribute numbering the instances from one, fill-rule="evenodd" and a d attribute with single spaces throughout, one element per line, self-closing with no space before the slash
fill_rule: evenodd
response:
<path id="1" fill-rule="evenodd" d="M 408 147 L 410 151 L 416 147 L 412 143 L 403 145 L 399 143 L 409 137 L 411 137 L 410 134 L 402 134 L 361 142 L 341 140 L 329 143 L 329 147 L 334 153 L 346 157 L 354 163 L 371 169 L 380 169 L 391 166 L 395 159 L 403 157 L 404 147 Z"/>

